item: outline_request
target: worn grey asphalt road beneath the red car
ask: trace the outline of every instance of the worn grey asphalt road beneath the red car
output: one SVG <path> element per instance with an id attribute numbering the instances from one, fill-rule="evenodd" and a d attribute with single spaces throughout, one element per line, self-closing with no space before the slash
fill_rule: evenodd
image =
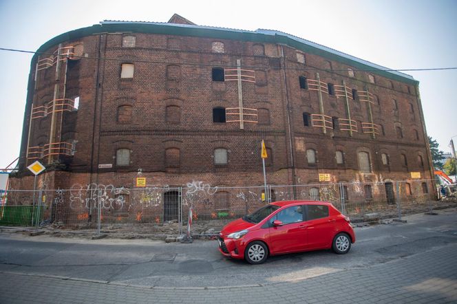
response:
<path id="1" fill-rule="evenodd" d="M 0 234 L 3 274 L 154 287 L 265 286 L 357 271 L 414 254 L 456 248 L 457 209 L 413 215 L 407 223 L 356 228 L 348 254 L 330 250 L 270 257 L 249 265 L 222 257 L 216 241 L 191 244 L 151 240 L 85 240 Z M 455 257 L 454 257 L 455 258 Z M 26 276 L 23 276 L 25 278 Z"/>

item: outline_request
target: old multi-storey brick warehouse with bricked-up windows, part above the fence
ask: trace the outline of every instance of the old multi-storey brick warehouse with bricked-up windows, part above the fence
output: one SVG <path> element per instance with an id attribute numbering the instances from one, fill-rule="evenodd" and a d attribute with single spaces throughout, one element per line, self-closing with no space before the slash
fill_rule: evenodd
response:
<path id="1" fill-rule="evenodd" d="M 40 160 L 54 189 L 132 188 L 138 171 L 151 185 L 261 186 L 262 140 L 269 184 L 432 177 L 412 76 L 174 15 L 103 21 L 39 48 L 12 185 L 31 188 L 26 166 Z"/>

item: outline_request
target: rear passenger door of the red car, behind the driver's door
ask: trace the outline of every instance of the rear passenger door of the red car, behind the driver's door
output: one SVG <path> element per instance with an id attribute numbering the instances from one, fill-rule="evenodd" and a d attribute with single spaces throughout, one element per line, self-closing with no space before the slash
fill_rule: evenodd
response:
<path id="1" fill-rule="evenodd" d="M 306 206 L 307 250 L 328 248 L 334 235 L 335 221 L 329 216 L 328 206 Z"/>

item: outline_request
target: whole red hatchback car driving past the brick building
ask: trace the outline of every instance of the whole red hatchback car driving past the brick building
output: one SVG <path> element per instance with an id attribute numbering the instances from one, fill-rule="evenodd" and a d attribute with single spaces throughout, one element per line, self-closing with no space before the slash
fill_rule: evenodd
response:
<path id="1" fill-rule="evenodd" d="M 355 242 L 348 217 L 327 202 L 274 202 L 222 228 L 219 250 L 226 257 L 259 264 L 268 255 L 330 249 L 347 253 Z"/>

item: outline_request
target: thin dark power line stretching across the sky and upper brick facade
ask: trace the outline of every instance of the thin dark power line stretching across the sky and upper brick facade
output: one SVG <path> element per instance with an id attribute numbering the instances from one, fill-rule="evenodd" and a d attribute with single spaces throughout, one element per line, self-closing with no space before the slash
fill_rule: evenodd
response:
<path id="1" fill-rule="evenodd" d="M 17 50 L 17 49 L 7 49 L 5 47 L 0 47 L 2 51 L 8 52 L 20 52 L 20 53 L 28 53 L 28 54 L 39 54 L 39 55 L 49 55 L 55 56 L 54 53 L 47 53 L 47 52 L 34 52 L 34 51 L 27 51 L 27 50 Z M 65 54 L 61 55 L 65 56 Z M 90 56 L 72 56 L 72 58 L 80 58 L 80 59 L 95 59 L 95 60 L 104 60 L 104 61 L 123 61 L 126 60 L 123 58 L 109 58 L 109 57 L 90 57 Z M 194 65 L 194 66 L 211 66 L 214 67 L 214 64 L 209 63 L 176 63 L 176 62 L 169 62 L 169 61 L 149 61 L 149 60 L 142 60 L 142 59 L 135 59 L 131 60 L 130 62 L 137 62 L 137 63 L 157 63 L 157 64 L 179 64 L 179 65 Z M 217 65 L 219 67 L 233 67 L 234 65 Z M 259 69 L 258 65 L 255 66 L 247 66 L 253 69 Z M 274 67 L 264 67 L 265 69 L 274 69 Z M 317 67 L 286 67 L 285 69 L 297 69 L 297 70 L 310 70 L 310 71 L 332 71 L 332 72 L 342 72 L 347 71 L 347 69 L 322 69 Z M 421 69 L 352 69 L 354 72 L 376 72 L 376 71 L 383 71 L 383 72 L 414 72 L 414 71 L 445 71 L 445 70 L 452 70 L 457 69 L 457 67 L 429 67 L 429 68 L 421 68 Z"/>

